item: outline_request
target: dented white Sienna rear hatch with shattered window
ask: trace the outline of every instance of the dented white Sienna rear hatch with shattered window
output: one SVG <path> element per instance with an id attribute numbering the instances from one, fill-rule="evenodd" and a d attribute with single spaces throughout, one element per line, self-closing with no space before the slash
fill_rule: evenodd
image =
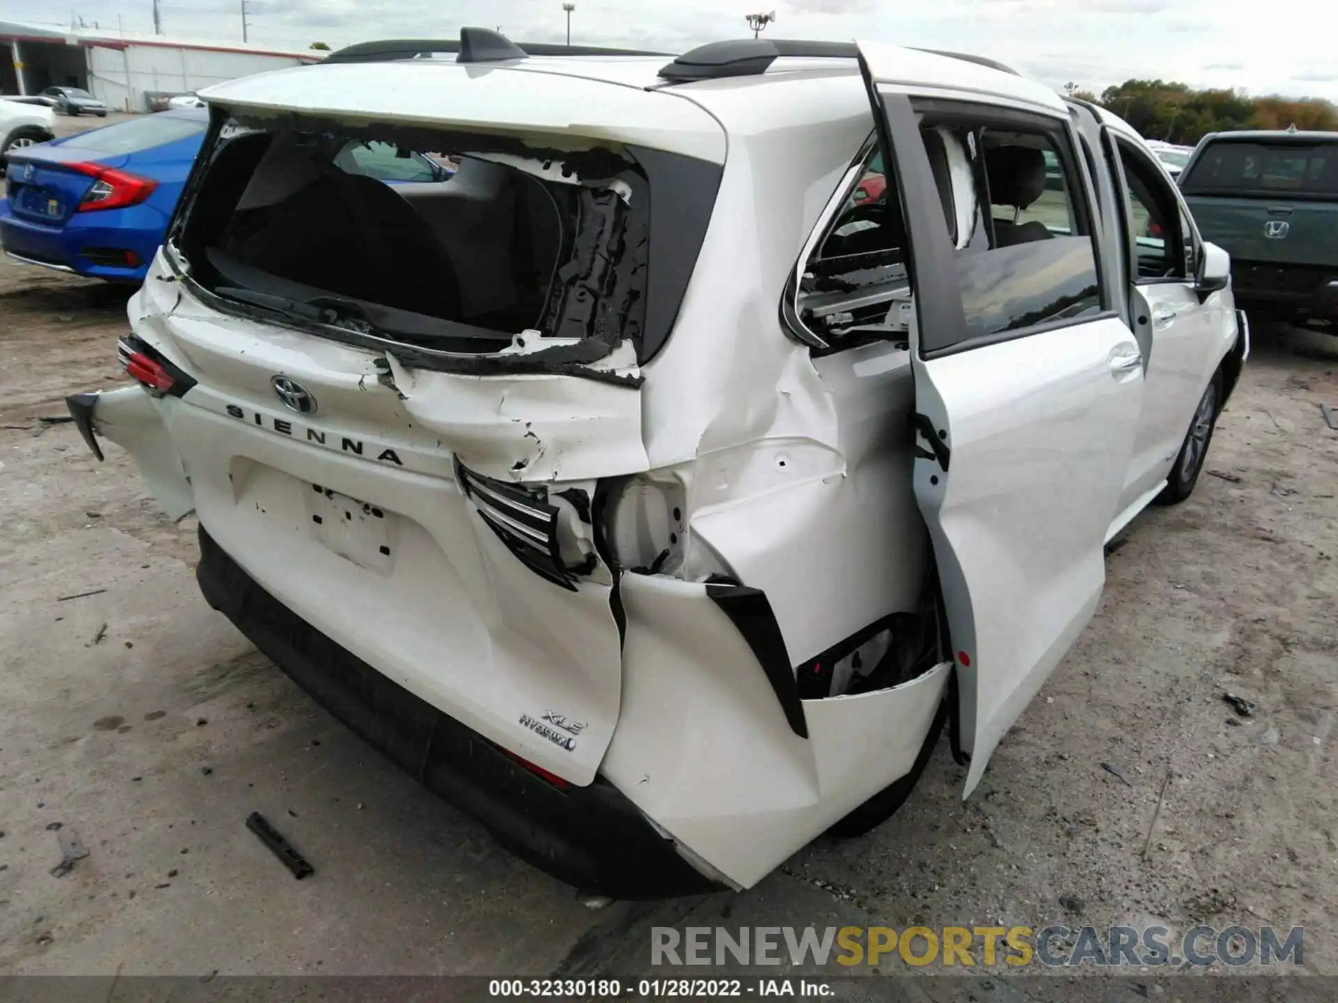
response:
<path id="1" fill-rule="evenodd" d="M 641 364 L 696 263 L 719 123 L 427 60 L 210 102 L 214 142 L 131 305 L 197 381 L 165 420 L 201 524 L 397 685 L 591 782 L 622 695 L 598 491 L 649 467 Z M 459 170 L 392 186 L 360 166 L 373 152 Z"/>

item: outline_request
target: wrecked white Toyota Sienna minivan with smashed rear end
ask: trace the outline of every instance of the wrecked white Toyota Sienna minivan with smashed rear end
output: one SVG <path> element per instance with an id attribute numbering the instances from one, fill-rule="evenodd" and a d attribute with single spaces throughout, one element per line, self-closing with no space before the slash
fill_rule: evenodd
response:
<path id="1" fill-rule="evenodd" d="M 207 92 L 138 385 L 70 399 L 198 512 L 209 603 L 618 897 L 872 828 L 945 723 L 975 788 L 1246 357 L 1143 140 L 882 44 L 369 59 Z"/>

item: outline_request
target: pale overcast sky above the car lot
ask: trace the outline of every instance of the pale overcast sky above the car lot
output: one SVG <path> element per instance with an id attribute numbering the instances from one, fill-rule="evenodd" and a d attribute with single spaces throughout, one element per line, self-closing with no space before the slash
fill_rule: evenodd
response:
<path id="1" fill-rule="evenodd" d="M 241 40 L 241 0 L 159 0 L 163 31 Z M 978 52 L 1056 87 L 1100 92 L 1129 78 L 1236 87 L 1338 100 L 1333 56 L 1338 13 L 1319 0 L 577 0 L 573 43 L 678 52 L 747 36 L 744 15 L 769 11 L 773 37 L 871 39 Z M 516 41 L 561 41 L 561 0 L 248 0 L 250 40 L 339 48 L 373 37 L 452 37 L 460 24 L 496 28 Z M 1329 9 L 1326 9 L 1329 8 Z M 151 0 L 75 0 L 90 25 L 151 29 Z M 0 0 L 0 17 L 50 23 L 47 0 Z M 68 20 L 64 21 L 68 25 Z"/>

